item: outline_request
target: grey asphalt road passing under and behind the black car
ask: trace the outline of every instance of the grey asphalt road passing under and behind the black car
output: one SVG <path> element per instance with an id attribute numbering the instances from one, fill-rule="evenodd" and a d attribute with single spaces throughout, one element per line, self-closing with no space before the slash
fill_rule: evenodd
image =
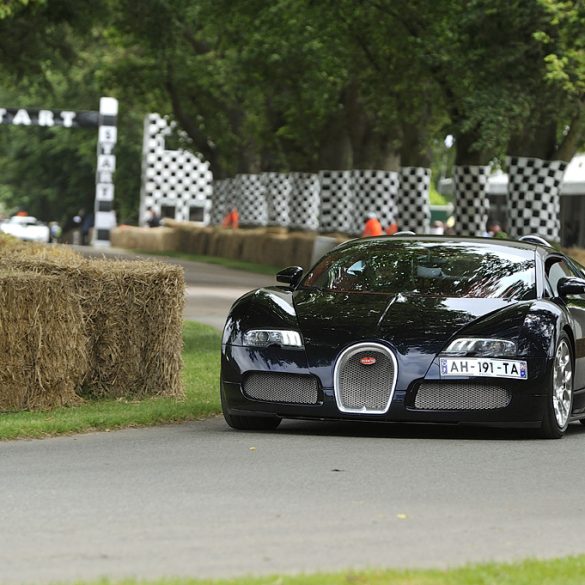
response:
<path id="1" fill-rule="evenodd" d="M 189 265 L 186 278 L 185 316 L 221 324 L 232 297 L 272 281 L 205 265 Z M 498 429 L 297 421 L 245 433 L 220 417 L 4 442 L 0 583 L 581 553 L 584 448 L 579 424 L 561 441 L 538 441 Z"/>

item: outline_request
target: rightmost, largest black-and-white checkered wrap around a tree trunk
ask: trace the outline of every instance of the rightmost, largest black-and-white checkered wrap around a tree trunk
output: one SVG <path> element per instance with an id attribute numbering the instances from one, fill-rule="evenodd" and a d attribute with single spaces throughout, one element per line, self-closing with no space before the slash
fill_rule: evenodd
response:
<path id="1" fill-rule="evenodd" d="M 508 234 L 537 234 L 560 240 L 560 188 L 567 163 L 510 157 L 508 163 Z"/>

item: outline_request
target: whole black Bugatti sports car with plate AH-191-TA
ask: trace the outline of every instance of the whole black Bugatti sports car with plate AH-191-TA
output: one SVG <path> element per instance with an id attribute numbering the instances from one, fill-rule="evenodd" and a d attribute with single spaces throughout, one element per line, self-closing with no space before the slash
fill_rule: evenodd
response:
<path id="1" fill-rule="evenodd" d="M 236 429 L 282 418 L 534 426 L 585 417 L 585 273 L 536 236 L 346 242 L 241 297 L 222 340 Z M 581 421 L 585 422 L 585 421 Z"/>

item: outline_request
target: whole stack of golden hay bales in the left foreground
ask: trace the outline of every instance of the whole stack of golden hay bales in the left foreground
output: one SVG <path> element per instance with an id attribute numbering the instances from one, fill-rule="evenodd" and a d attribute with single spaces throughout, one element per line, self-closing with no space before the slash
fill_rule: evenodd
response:
<path id="1" fill-rule="evenodd" d="M 0 378 L 0 410 L 79 397 L 182 396 L 182 268 L 42 248 L 0 247 L 0 270 L 14 283 L 0 297 L 3 332 L 10 333 L 3 343 L 22 340 L 2 353 L 10 368 Z"/>

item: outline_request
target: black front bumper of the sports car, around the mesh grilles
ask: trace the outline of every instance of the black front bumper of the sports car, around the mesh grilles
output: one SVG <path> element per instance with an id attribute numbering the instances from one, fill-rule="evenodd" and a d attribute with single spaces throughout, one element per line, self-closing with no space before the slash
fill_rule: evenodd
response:
<path id="1" fill-rule="evenodd" d="M 528 380 L 503 378 L 441 378 L 438 360 L 434 360 L 422 378 L 408 378 L 411 368 L 403 367 L 398 376 L 396 388 L 387 412 L 383 414 L 342 412 L 337 404 L 332 375 L 325 374 L 327 367 L 318 370 L 309 368 L 303 352 L 279 353 L 279 359 L 270 354 L 249 352 L 241 347 L 225 348 L 222 357 L 221 389 L 224 407 L 230 414 L 240 416 L 274 416 L 316 420 L 376 421 L 376 422 L 427 422 L 427 423 L 469 423 L 511 426 L 538 425 L 542 421 L 547 400 L 547 380 L 551 363 L 546 358 L 529 358 Z M 266 357 L 268 356 L 268 358 Z M 265 359 L 266 358 L 266 359 Z M 333 371 L 333 364 L 330 370 Z M 249 373 L 286 373 L 289 375 L 312 375 L 318 380 L 318 397 L 315 404 L 295 404 L 257 400 L 246 396 L 243 380 Z M 325 382 L 325 383 L 324 383 Z M 327 384 L 329 382 L 329 384 Z M 509 393 L 506 406 L 497 408 L 420 408 L 416 396 L 422 383 L 489 385 L 497 382 Z"/>

